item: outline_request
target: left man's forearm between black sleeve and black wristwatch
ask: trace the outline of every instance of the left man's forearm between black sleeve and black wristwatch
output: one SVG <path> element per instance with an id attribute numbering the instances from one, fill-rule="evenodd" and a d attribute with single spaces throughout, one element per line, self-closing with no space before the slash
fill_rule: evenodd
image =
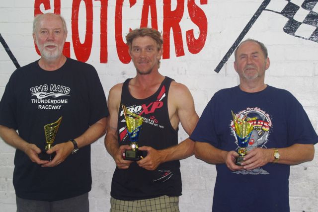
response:
<path id="1" fill-rule="evenodd" d="M 78 138 L 74 138 L 79 148 L 91 144 L 92 142 L 99 139 L 101 136 L 103 136 L 106 133 L 106 117 L 100 119 L 95 124 L 90 126 L 82 135 L 80 135 Z"/>

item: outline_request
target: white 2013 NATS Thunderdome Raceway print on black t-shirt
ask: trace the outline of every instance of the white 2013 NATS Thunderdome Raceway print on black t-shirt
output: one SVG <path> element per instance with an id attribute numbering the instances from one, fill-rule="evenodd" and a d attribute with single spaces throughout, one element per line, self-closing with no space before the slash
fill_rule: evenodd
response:
<path id="1" fill-rule="evenodd" d="M 68 104 L 68 99 L 63 97 L 70 96 L 71 88 L 58 84 L 41 84 L 31 87 L 30 91 L 31 103 L 36 104 L 37 109 L 60 110 L 64 104 Z"/>

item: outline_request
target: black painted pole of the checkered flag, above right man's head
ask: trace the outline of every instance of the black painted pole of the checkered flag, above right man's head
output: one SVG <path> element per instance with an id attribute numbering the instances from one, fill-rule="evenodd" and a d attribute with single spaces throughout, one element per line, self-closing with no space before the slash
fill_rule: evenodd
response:
<path id="1" fill-rule="evenodd" d="M 229 51 L 225 54 L 225 56 L 223 57 L 223 59 L 221 60 L 221 62 L 217 66 L 217 68 L 215 68 L 215 70 L 214 70 L 215 72 L 219 73 L 219 71 L 222 69 L 223 65 L 229 60 L 229 58 L 233 54 L 234 50 L 239 46 L 239 43 L 241 42 L 241 40 L 244 38 L 246 33 L 249 31 L 249 29 L 255 23 L 255 21 L 257 20 L 259 15 L 262 13 L 262 11 L 266 8 L 266 6 L 269 4 L 269 2 L 270 2 L 270 0 L 264 0 L 262 2 L 262 4 L 259 6 L 257 11 L 254 13 L 252 18 L 249 20 L 249 22 L 244 27 L 243 31 L 239 34 L 239 37 L 237 38 L 237 40 L 234 42 L 234 44 L 229 49 Z"/>

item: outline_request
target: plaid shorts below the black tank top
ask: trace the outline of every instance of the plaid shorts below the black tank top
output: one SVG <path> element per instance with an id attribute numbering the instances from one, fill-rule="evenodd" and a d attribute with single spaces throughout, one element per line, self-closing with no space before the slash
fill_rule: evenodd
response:
<path id="1" fill-rule="evenodd" d="M 179 212 L 179 197 L 161 196 L 146 200 L 110 198 L 110 212 Z"/>

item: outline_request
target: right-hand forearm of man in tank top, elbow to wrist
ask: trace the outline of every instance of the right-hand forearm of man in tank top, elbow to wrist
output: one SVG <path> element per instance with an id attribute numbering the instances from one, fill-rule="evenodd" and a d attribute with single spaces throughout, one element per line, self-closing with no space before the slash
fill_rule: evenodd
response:
<path id="1" fill-rule="evenodd" d="M 194 141 L 186 139 L 178 145 L 159 150 L 162 162 L 181 160 L 194 154 Z"/>

